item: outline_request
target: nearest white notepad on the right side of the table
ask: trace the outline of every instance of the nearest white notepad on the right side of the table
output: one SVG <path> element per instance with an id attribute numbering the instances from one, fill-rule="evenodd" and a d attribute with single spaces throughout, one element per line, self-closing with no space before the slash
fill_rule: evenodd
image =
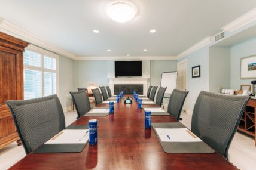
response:
<path id="1" fill-rule="evenodd" d="M 200 142 L 199 137 L 193 134 L 187 128 L 156 128 L 157 135 L 159 135 L 163 142 Z"/>

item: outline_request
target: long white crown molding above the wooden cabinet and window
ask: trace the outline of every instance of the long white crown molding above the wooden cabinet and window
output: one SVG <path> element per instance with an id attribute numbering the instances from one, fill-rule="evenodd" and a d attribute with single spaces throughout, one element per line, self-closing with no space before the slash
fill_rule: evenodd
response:
<path id="1" fill-rule="evenodd" d="M 45 41 L 44 39 L 38 38 L 38 36 L 33 35 L 32 33 L 29 33 L 26 30 L 21 29 L 20 27 L 17 27 L 12 23 L 9 23 L 3 18 L 0 18 L 0 31 L 16 38 L 22 39 L 23 41 L 29 42 L 30 44 L 45 48 L 45 50 L 55 52 L 56 54 L 63 55 L 68 58 L 72 58 L 73 60 L 77 59 L 77 56 L 75 56 L 71 52 L 63 50 L 62 48 L 59 48 L 56 45 Z"/>

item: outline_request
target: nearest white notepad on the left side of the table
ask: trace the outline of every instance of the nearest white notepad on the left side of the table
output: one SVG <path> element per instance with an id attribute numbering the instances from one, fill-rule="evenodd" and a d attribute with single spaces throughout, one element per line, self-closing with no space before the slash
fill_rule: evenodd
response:
<path id="1" fill-rule="evenodd" d="M 44 144 L 79 144 L 89 140 L 89 130 L 63 130 Z"/>

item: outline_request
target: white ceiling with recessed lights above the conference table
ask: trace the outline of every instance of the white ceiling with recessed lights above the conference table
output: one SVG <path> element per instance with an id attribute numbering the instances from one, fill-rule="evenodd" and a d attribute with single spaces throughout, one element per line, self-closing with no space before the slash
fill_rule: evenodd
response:
<path id="1" fill-rule="evenodd" d="M 77 56 L 176 56 L 256 7 L 255 0 L 134 0 L 139 15 L 115 23 L 105 14 L 110 2 L 0 0 L 0 17 Z"/>

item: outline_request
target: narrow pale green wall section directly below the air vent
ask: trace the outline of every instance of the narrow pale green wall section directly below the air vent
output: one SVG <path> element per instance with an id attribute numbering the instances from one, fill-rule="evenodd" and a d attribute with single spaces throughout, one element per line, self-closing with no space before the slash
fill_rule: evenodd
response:
<path id="1" fill-rule="evenodd" d="M 230 48 L 209 48 L 209 91 L 230 89 Z"/>

